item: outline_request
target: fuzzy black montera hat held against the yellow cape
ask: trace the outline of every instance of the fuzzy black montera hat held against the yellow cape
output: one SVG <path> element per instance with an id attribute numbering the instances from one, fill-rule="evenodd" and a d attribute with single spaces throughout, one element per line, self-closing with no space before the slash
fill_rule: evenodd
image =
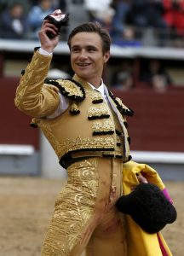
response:
<path id="1" fill-rule="evenodd" d="M 116 207 L 119 212 L 129 214 L 142 230 L 151 234 L 173 223 L 177 217 L 175 207 L 152 183 L 140 183 L 129 195 L 122 195 Z"/>

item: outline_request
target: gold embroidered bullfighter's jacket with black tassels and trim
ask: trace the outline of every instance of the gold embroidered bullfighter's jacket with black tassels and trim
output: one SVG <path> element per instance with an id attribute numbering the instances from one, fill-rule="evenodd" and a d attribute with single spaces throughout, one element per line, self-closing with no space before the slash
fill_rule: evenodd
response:
<path id="1" fill-rule="evenodd" d="M 38 125 L 48 138 L 60 165 L 66 168 L 72 160 L 83 156 L 130 160 L 125 116 L 133 112 L 105 88 L 109 107 L 101 93 L 76 75 L 73 79 L 45 83 L 51 59 L 37 51 L 34 53 L 22 73 L 14 102 L 17 108 L 33 117 L 32 124 Z M 69 107 L 60 116 L 48 119 L 58 108 L 59 92 L 69 100 Z"/>

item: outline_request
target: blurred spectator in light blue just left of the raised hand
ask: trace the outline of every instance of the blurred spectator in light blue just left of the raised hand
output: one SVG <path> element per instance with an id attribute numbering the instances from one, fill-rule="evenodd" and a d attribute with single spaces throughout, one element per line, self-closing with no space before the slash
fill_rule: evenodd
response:
<path id="1" fill-rule="evenodd" d="M 52 0 L 40 0 L 39 3 L 32 7 L 28 15 L 30 26 L 30 38 L 37 39 L 37 32 L 40 29 L 45 16 L 54 12 Z"/>

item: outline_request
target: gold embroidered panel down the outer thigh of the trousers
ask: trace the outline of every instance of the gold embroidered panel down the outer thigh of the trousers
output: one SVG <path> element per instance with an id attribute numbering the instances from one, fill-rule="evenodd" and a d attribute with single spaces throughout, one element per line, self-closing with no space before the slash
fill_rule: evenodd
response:
<path id="1" fill-rule="evenodd" d="M 95 159 L 83 160 L 68 168 L 68 182 L 55 201 L 42 255 L 69 255 L 81 240 L 83 228 L 95 208 L 99 186 L 96 168 Z"/>

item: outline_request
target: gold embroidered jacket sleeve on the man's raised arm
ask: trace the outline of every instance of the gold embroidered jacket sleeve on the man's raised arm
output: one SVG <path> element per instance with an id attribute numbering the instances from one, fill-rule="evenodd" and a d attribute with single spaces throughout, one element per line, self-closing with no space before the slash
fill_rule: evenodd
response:
<path id="1" fill-rule="evenodd" d="M 16 107 L 32 117 L 41 118 L 54 113 L 60 102 L 58 88 L 44 84 L 51 59 L 51 56 L 36 52 L 16 90 Z"/>

